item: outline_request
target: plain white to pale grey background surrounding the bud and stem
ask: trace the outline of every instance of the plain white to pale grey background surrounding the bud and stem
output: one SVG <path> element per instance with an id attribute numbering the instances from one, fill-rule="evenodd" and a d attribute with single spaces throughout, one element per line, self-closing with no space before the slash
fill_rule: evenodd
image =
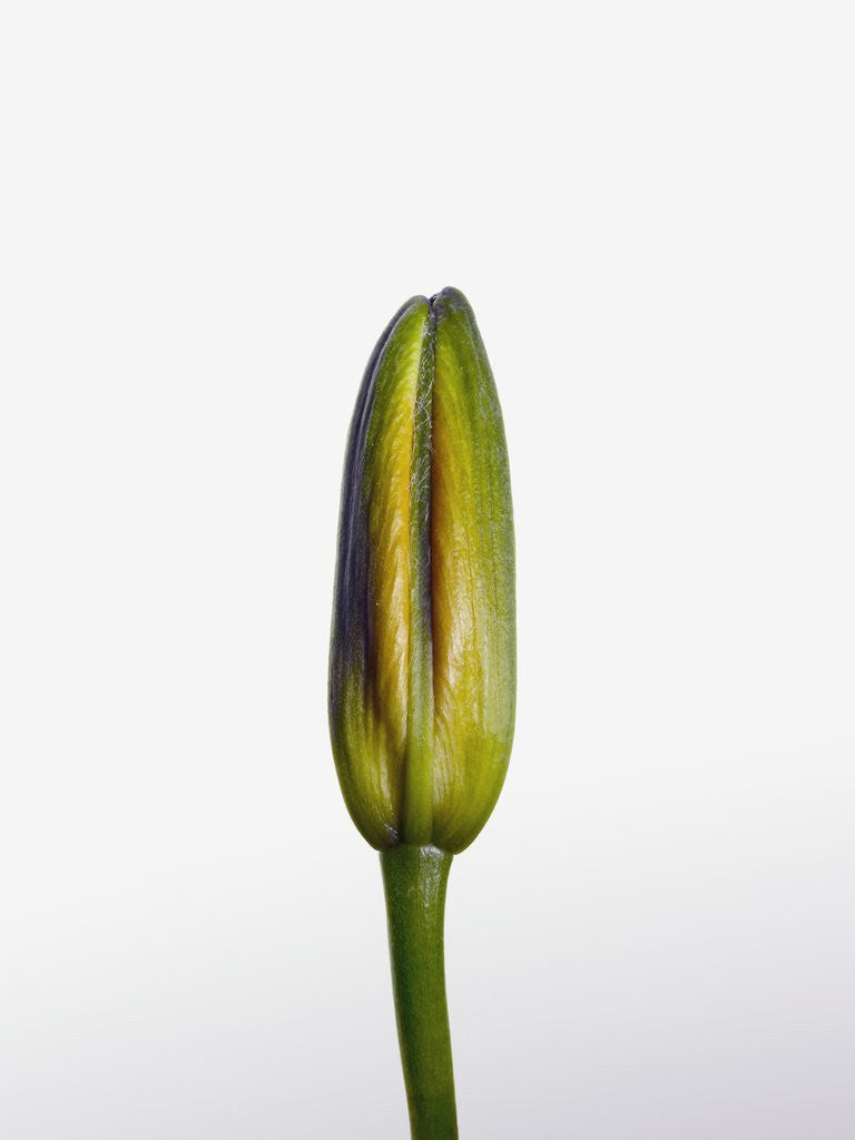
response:
<path id="1" fill-rule="evenodd" d="M 850 5 L 2 11 L 0 1134 L 407 1133 L 326 652 L 363 367 L 456 285 L 520 668 L 462 1135 L 850 1140 Z"/>

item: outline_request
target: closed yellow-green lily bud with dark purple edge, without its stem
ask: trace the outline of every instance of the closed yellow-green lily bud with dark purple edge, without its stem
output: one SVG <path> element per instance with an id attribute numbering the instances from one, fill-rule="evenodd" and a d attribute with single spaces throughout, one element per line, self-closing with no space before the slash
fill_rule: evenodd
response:
<path id="1" fill-rule="evenodd" d="M 462 850 L 514 726 L 507 450 L 457 290 L 408 301 L 370 357 L 342 487 L 329 724 L 344 800 L 377 849 Z"/>

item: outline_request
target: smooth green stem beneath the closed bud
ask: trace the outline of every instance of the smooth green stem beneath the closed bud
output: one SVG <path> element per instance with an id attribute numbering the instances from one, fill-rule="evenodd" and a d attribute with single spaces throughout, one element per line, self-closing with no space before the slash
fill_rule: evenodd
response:
<path id="1" fill-rule="evenodd" d="M 380 863 L 413 1140 L 457 1140 L 442 950 L 451 856 L 400 844 L 381 852 Z"/>

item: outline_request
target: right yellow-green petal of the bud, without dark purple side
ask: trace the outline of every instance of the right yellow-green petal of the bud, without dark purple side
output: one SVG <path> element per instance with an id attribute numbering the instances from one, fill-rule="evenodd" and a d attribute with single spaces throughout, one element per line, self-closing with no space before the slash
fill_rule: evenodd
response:
<path id="1" fill-rule="evenodd" d="M 474 315 L 456 290 L 433 309 L 433 841 L 457 852 L 489 817 L 513 741 L 513 508 L 502 409 Z"/>

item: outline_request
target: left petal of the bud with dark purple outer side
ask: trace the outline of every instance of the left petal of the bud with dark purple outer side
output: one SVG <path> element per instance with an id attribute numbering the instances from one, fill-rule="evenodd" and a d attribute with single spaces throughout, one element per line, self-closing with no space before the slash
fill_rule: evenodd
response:
<path id="1" fill-rule="evenodd" d="M 410 720 L 410 474 L 430 304 L 381 337 L 344 462 L 329 709 L 345 803 L 375 847 L 398 841 Z"/>

